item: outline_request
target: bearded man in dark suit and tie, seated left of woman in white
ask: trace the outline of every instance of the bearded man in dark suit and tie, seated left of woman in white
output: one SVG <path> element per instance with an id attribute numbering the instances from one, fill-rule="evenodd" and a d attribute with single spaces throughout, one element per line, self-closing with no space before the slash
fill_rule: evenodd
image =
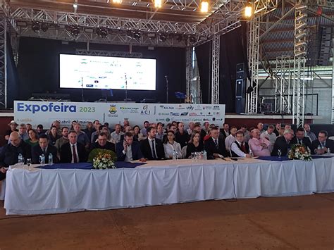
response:
<path id="1" fill-rule="evenodd" d="M 140 150 L 147 160 L 161 160 L 165 157 L 165 150 L 161 140 L 156 139 L 156 129 L 147 128 L 147 139 L 140 141 Z"/>

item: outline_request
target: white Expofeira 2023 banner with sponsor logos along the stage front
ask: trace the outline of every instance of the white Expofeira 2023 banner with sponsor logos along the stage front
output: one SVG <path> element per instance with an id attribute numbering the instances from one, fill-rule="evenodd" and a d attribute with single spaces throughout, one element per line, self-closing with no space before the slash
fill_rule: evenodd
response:
<path id="1" fill-rule="evenodd" d="M 208 121 L 221 127 L 225 121 L 225 105 L 14 101 L 14 118 L 18 124 L 30 123 L 32 127 L 42 124 L 45 128 L 54 120 L 59 120 L 61 127 L 69 127 L 73 120 L 78 120 L 83 128 L 94 120 L 109 123 L 109 127 L 123 125 L 123 120 L 140 127 L 145 120 L 165 125 L 175 120 L 186 126 L 190 122 L 203 125 Z"/>

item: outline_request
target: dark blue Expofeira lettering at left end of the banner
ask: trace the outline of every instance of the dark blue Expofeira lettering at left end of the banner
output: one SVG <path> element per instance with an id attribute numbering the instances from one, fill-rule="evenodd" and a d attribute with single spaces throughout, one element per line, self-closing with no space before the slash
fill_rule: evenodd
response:
<path id="1" fill-rule="evenodd" d="M 17 106 L 18 112 L 77 112 L 77 106 L 75 105 L 66 105 L 66 104 L 54 104 L 50 102 L 49 104 L 25 104 L 23 102 L 18 102 Z"/>

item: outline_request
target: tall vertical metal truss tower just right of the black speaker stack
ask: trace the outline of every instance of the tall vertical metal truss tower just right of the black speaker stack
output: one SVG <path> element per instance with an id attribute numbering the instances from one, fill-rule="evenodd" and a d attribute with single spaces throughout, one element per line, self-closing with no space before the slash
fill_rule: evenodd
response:
<path id="1" fill-rule="evenodd" d="M 249 23 L 248 63 L 250 81 L 247 80 L 247 89 L 252 92 L 247 95 L 247 113 L 257 113 L 259 94 L 259 42 L 260 42 L 261 15 L 256 15 Z"/>

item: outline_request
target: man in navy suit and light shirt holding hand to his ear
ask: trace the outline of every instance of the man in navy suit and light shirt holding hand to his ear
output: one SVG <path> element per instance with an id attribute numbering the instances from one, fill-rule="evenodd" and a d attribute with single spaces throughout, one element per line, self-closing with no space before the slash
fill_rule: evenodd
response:
<path id="1" fill-rule="evenodd" d="M 117 161 L 146 161 L 140 151 L 140 143 L 133 141 L 131 132 L 125 132 L 125 139 L 116 144 Z"/>

